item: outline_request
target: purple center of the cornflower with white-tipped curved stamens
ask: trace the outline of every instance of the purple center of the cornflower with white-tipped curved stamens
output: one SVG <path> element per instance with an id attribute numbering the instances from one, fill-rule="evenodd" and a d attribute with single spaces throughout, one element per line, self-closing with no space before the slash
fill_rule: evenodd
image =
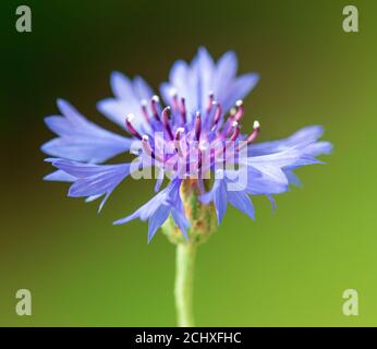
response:
<path id="1" fill-rule="evenodd" d="M 158 166 L 180 178 L 203 178 L 204 173 L 216 172 L 218 166 L 224 169 L 236 165 L 242 151 L 256 140 L 260 128 L 255 121 L 248 136 L 241 134 L 243 101 L 238 100 L 226 116 L 212 93 L 208 95 L 204 115 L 200 111 L 194 116 L 187 113 L 185 98 L 179 98 L 177 93 L 172 94 L 171 106 L 163 109 L 158 96 L 149 104 L 142 100 L 141 111 L 145 124 L 136 129 L 135 116 L 129 115 L 125 127 L 142 143 L 143 167 Z"/>

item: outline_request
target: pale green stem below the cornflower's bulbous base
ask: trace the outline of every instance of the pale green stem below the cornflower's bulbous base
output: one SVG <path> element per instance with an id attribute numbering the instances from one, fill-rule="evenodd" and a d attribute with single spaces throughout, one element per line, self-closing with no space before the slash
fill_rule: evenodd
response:
<path id="1" fill-rule="evenodd" d="M 175 310 L 178 326 L 193 327 L 193 286 L 196 244 L 185 242 L 177 245 Z"/>

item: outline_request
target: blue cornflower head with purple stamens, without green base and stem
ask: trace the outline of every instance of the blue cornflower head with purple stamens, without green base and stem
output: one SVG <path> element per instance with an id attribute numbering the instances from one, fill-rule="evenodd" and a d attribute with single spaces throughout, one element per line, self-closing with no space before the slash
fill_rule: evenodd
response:
<path id="1" fill-rule="evenodd" d="M 99 209 L 126 177 L 139 178 L 157 169 L 156 191 L 150 201 L 125 218 L 148 220 L 148 241 L 172 217 L 185 239 L 190 238 L 181 184 L 195 179 L 204 205 L 214 203 L 220 224 L 228 204 L 255 218 L 251 200 L 289 191 L 300 184 L 294 170 L 323 164 L 316 157 L 331 152 L 331 144 L 318 141 L 321 127 L 304 128 L 292 136 L 257 143 L 260 125 L 241 133 L 245 97 L 258 75 L 236 75 L 235 53 L 227 52 L 217 62 L 200 48 L 191 63 L 177 61 L 169 81 L 160 86 L 167 107 L 142 77 L 133 81 L 119 72 L 111 74 L 113 97 L 100 100 L 98 109 L 122 127 L 130 136 L 109 132 L 88 121 L 68 101 L 58 100 L 61 116 L 45 119 L 58 136 L 41 149 L 52 158 L 56 171 L 45 179 L 71 182 L 69 196 L 94 201 L 102 197 Z M 102 165 L 110 158 L 131 152 L 132 163 Z M 149 177 L 151 178 L 151 177 Z M 168 185 L 160 190 L 163 178 Z M 206 186 L 214 179 L 211 188 Z"/>

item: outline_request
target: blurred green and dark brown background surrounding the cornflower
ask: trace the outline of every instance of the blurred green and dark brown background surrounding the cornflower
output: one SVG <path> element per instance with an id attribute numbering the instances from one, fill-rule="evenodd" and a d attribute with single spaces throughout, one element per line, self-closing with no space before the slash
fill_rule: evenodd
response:
<path id="1" fill-rule="evenodd" d="M 15 31 L 28 4 L 33 33 Z M 377 2 L 352 1 L 360 33 L 342 31 L 349 1 L 1 1 L 0 325 L 173 326 L 174 246 L 147 225 L 111 222 L 153 194 L 124 182 L 97 203 L 66 197 L 41 180 L 51 169 L 39 146 L 52 137 L 45 116 L 56 98 L 119 131 L 95 104 L 109 75 L 141 74 L 157 88 L 175 59 L 198 46 L 239 55 L 241 72 L 262 80 L 245 100 L 244 129 L 258 118 L 260 140 L 324 124 L 335 144 L 326 166 L 304 182 L 256 197 L 256 221 L 229 209 L 197 255 L 199 326 L 377 325 L 376 87 Z M 121 131 L 120 131 L 121 132 Z M 15 292 L 33 294 L 33 316 L 17 316 Z M 342 314 L 354 288 L 360 315 Z"/>

